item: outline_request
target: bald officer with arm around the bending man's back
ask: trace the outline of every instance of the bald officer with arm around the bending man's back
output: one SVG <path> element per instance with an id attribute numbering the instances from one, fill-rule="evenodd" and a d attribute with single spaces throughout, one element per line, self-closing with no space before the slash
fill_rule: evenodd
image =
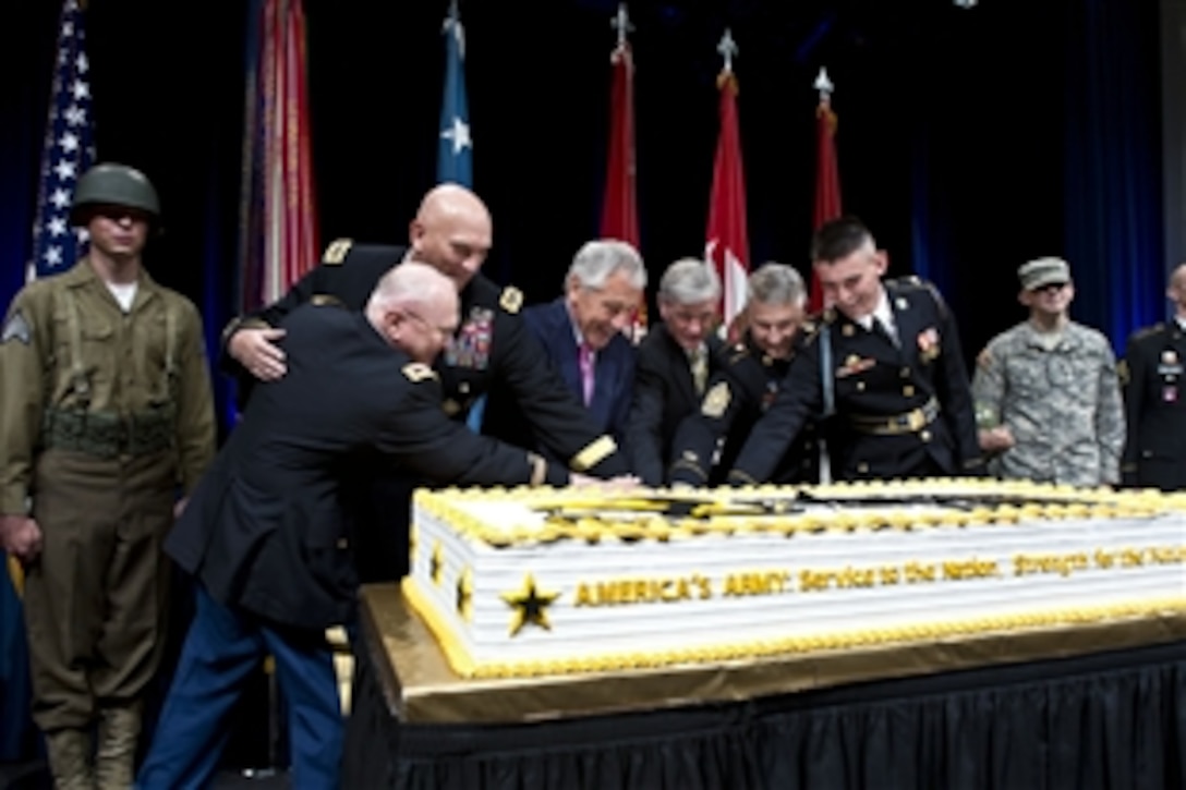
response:
<path id="1" fill-rule="evenodd" d="M 453 280 L 461 299 L 461 325 L 438 358 L 442 408 L 464 422 L 484 393 L 500 389 L 515 401 L 531 426 L 538 446 L 578 472 L 594 477 L 629 473 L 625 454 L 605 435 L 581 402 L 553 372 L 548 357 L 522 320 L 523 295 L 499 288 L 479 269 L 490 250 L 490 212 L 477 195 L 457 184 L 431 190 L 409 229 L 409 247 L 359 246 L 347 240 L 326 248 L 321 265 L 279 301 L 231 321 L 223 332 L 222 367 L 236 376 L 241 401 L 256 380 L 285 372 L 285 316 L 305 302 L 337 302 L 361 310 L 380 278 L 414 256 Z M 519 442 L 525 444 L 519 439 Z M 387 514 L 407 514 L 412 485 L 372 473 L 378 483 L 371 497 L 359 499 L 358 518 L 366 542 L 359 552 L 363 581 L 387 581 L 408 571 L 407 516 L 391 524 Z M 380 516 L 382 515 L 382 518 Z"/>

